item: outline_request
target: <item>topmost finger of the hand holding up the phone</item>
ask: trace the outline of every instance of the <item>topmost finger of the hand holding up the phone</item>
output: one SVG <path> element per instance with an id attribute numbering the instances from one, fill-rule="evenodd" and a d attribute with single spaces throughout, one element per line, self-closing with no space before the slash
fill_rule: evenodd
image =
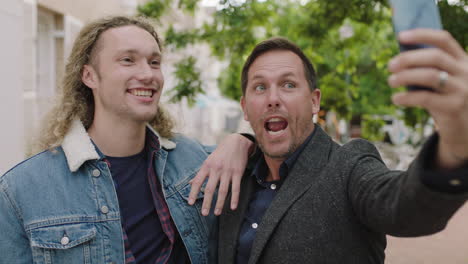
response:
<path id="1" fill-rule="evenodd" d="M 460 44 L 445 30 L 418 28 L 401 32 L 398 39 L 403 44 L 422 43 L 436 46 L 457 59 L 466 56 Z"/>

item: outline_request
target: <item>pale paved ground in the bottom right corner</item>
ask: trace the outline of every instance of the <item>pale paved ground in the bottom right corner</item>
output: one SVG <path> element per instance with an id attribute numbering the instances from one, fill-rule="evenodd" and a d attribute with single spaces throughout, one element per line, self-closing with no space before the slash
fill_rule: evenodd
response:
<path id="1" fill-rule="evenodd" d="M 388 264 L 468 264 L 468 204 L 438 234 L 419 238 L 388 237 Z"/>

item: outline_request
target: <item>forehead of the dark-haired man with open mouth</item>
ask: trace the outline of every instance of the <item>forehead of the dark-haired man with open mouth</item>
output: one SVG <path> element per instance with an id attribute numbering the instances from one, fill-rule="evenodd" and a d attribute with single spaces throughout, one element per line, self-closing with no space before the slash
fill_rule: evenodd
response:
<path id="1" fill-rule="evenodd" d="M 266 77 L 278 74 L 304 77 L 304 64 L 301 58 L 289 50 L 272 50 L 258 56 L 248 71 L 248 78 Z"/>

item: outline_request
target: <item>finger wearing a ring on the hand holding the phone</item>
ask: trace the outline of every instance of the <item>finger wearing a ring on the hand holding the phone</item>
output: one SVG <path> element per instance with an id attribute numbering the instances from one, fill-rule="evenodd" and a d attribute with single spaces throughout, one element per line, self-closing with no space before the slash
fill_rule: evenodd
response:
<path id="1" fill-rule="evenodd" d="M 453 91 L 454 77 L 448 77 L 443 87 L 440 83 L 441 71 L 433 68 L 410 68 L 404 71 L 390 75 L 388 84 L 391 87 L 400 87 L 407 85 L 420 85 L 434 89 L 439 93 L 448 93 Z"/>

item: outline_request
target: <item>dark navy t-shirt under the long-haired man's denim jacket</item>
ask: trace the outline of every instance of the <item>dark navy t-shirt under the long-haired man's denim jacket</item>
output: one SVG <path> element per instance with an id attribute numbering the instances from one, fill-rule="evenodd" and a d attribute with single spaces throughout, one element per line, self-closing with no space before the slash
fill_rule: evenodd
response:
<path id="1" fill-rule="evenodd" d="M 162 251 L 164 234 L 148 183 L 145 149 L 129 157 L 106 157 L 119 198 L 122 225 L 137 263 L 154 263 Z"/>

